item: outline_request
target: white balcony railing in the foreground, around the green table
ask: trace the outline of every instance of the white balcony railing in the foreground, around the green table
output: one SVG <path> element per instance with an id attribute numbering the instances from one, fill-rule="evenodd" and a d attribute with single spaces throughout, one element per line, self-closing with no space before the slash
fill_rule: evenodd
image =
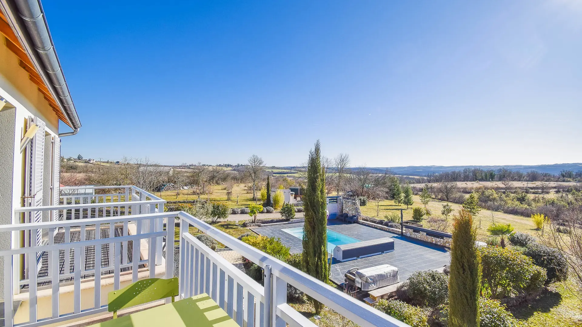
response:
<path id="1" fill-rule="evenodd" d="M 80 318 L 86 315 L 95 314 L 98 312 L 107 311 L 107 304 L 104 303 L 101 291 L 101 274 L 110 273 L 113 275 L 112 289 L 120 288 L 120 280 L 124 276 L 131 275 L 131 279 L 127 282 L 133 282 L 138 278 L 141 265 L 147 265 L 149 273 L 148 276 L 155 276 L 155 267 L 157 261 L 157 246 L 148 247 L 148 259 L 144 260 L 136 253 L 136 248 L 133 247 L 133 242 L 143 241 L 147 244 L 156 244 L 158 239 L 166 237 L 168 240 L 165 246 L 166 260 L 165 278 L 171 278 L 174 271 L 173 251 L 174 251 L 174 235 L 175 235 L 175 218 L 180 219 L 179 226 L 179 280 L 180 280 L 180 298 L 194 296 L 200 293 L 209 294 L 227 313 L 230 317 L 235 319 L 239 326 L 255 326 L 255 327 L 282 327 L 282 326 L 315 326 L 311 321 L 294 310 L 286 303 L 287 287 L 292 285 L 308 296 L 321 301 L 331 309 L 340 312 L 346 318 L 352 320 L 357 325 L 362 327 L 372 326 L 407 326 L 395 318 L 392 318 L 380 311 L 375 310 L 367 304 L 361 303 L 356 299 L 347 296 L 346 294 L 334 289 L 317 279 L 311 278 L 292 266 L 277 260 L 270 255 L 262 253 L 261 251 L 237 240 L 228 234 L 218 230 L 207 223 L 200 221 L 197 218 L 185 212 L 158 212 L 143 215 L 128 215 L 128 216 L 113 216 L 105 218 L 87 218 L 76 219 L 72 221 L 46 222 L 46 223 L 23 223 L 16 225 L 0 226 L 1 232 L 17 232 L 29 231 L 32 234 L 47 230 L 49 234 L 54 230 L 72 230 L 73 228 L 80 229 L 81 234 L 83 230 L 87 232 L 88 229 L 115 229 L 115 226 L 127 227 L 128 224 L 136 224 L 136 226 L 149 224 L 150 229 L 147 232 L 139 229 L 136 234 L 115 234 L 109 233 L 109 237 L 98 238 L 94 240 L 81 241 L 66 241 L 63 243 L 55 243 L 54 240 L 49 244 L 42 246 L 30 246 L 24 248 L 13 248 L 9 250 L 0 251 L 0 257 L 4 260 L 5 276 L 5 303 L 12 303 L 14 298 L 13 281 L 9 277 L 10 272 L 15 268 L 15 258 L 22 254 L 28 254 L 29 258 L 34 258 L 36 253 L 47 251 L 51 256 L 48 263 L 48 270 L 51 272 L 50 276 L 38 277 L 31 273 L 29 279 L 19 280 L 19 285 L 26 283 L 28 287 L 28 301 L 23 301 L 21 305 L 26 307 L 28 305 L 29 317 L 25 321 L 15 321 L 15 316 L 12 314 L 9 305 L 5 305 L 5 325 L 6 326 L 41 326 L 53 324 L 59 321 L 66 321 L 69 319 Z M 159 229 L 159 221 L 166 221 L 166 229 Z M 140 224 L 141 222 L 141 224 Z M 265 283 L 261 286 L 255 280 L 242 273 L 234 265 L 230 264 L 215 251 L 205 246 L 189 233 L 189 226 L 195 226 L 201 232 L 208 234 L 217 241 L 243 257 L 255 262 L 255 264 L 264 268 Z M 127 229 L 124 229 L 127 230 Z M 128 244 L 133 248 L 133 256 L 125 258 L 125 250 Z M 114 249 L 109 251 L 108 265 L 102 266 L 102 262 L 95 262 L 93 269 L 83 269 L 80 262 L 83 262 L 84 250 L 87 247 L 94 247 L 95 252 L 100 251 L 102 247 L 108 246 Z M 59 256 L 61 251 L 69 251 L 72 255 L 72 269 L 65 269 L 65 272 L 59 272 Z M 52 254 L 51 254 L 52 253 Z M 62 256 L 61 256 L 62 257 Z M 65 257 L 67 257 L 65 255 Z M 100 257 L 95 255 L 95 258 Z M 134 260 L 135 258 L 135 260 Z M 31 260 L 31 259 L 30 259 Z M 98 268 L 101 266 L 101 268 Z M 124 275 L 125 274 L 125 275 Z M 94 280 L 88 279 L 93 283 L 95 288 L 94 299 L 91 303 L 81 303 L 81 281 L 83 276 L 91 277 Z M 73 305 L 70 312 L 63 312 L 63 308 L 59 310 L 59 297 L 62 297 L 61 287 L 63 280 L 72 279 L 73 283 Z M 41 282 L 49 283 L 49 286 L 40 285 Z M 39 305 L 37 303 L 38 292 L 44 292 L 42 287 L 48 287 L 52 296 L 50 300 L 51 314 L 47 317 L 39 317 Z M 20 294 L 22 296 L 22 294 Z M 20 317 L 22 319 L 22 317 Z"/>

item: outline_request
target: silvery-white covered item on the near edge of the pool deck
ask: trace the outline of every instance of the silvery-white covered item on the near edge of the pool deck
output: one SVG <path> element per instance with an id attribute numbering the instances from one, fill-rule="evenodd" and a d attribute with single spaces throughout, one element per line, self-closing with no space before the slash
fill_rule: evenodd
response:
<path id="1" fill-rule="evenodd" d="M 400 282 L 398 268 L 391 265 L 379 265 L 370 268 L 352 268 L 345 274 L 348 285 L 363 291 L 371 291 Z"/>

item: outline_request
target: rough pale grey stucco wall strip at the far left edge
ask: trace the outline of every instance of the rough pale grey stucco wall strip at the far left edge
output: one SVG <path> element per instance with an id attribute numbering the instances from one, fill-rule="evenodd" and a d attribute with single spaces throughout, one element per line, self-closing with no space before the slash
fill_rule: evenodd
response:
<path id="1" fill-rule="evenodd" d="M 16 109 L 0 111 L 0 224 L 12 223 L 12 184 Z M 0 248 L 10 248 L 10 234 L 0 233 Z M 4 266 L 0 258 L 0 266 Z M 0 299 L 4 299 L 4 275 L 0 273 Z"/>

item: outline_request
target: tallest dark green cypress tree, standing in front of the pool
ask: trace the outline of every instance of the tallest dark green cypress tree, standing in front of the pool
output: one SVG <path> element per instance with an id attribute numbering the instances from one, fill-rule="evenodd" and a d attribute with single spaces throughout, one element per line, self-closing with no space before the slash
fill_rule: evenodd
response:
<path id="1" fill-rule="evenodd" d="M 304 272 L 327 283 L 329 265 L 324 169 L 321 166 L 320 141 L 317 140 L 314 150 L 309 151 L 307 161 L 307 187 L 303 194 L 305 224 L 301 264 Z M 324 305 L 315 300 L 313 305 L 315 313 L 320 314 Z"/>

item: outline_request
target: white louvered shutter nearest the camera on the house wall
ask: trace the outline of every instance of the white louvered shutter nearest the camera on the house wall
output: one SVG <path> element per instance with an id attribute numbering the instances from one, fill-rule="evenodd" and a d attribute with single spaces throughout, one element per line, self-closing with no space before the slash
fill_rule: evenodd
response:
<path id="1" fill-rule="evenodd" d="M 26 206 L 40 207 L 42 205 L 42 179 L 44 170 L 44 133 L 45 123 L 38 117 L 29 119 L 29 128 L 38 126 L 38 131 L 27 146 L 27 183 L 26 183 Z M 29 216 L 27 222 L 42 222 L 42 212 L 34 212 L 34 216 Z M 36 244 L 41 245 L 42 235 L 37 233 Z"/>

